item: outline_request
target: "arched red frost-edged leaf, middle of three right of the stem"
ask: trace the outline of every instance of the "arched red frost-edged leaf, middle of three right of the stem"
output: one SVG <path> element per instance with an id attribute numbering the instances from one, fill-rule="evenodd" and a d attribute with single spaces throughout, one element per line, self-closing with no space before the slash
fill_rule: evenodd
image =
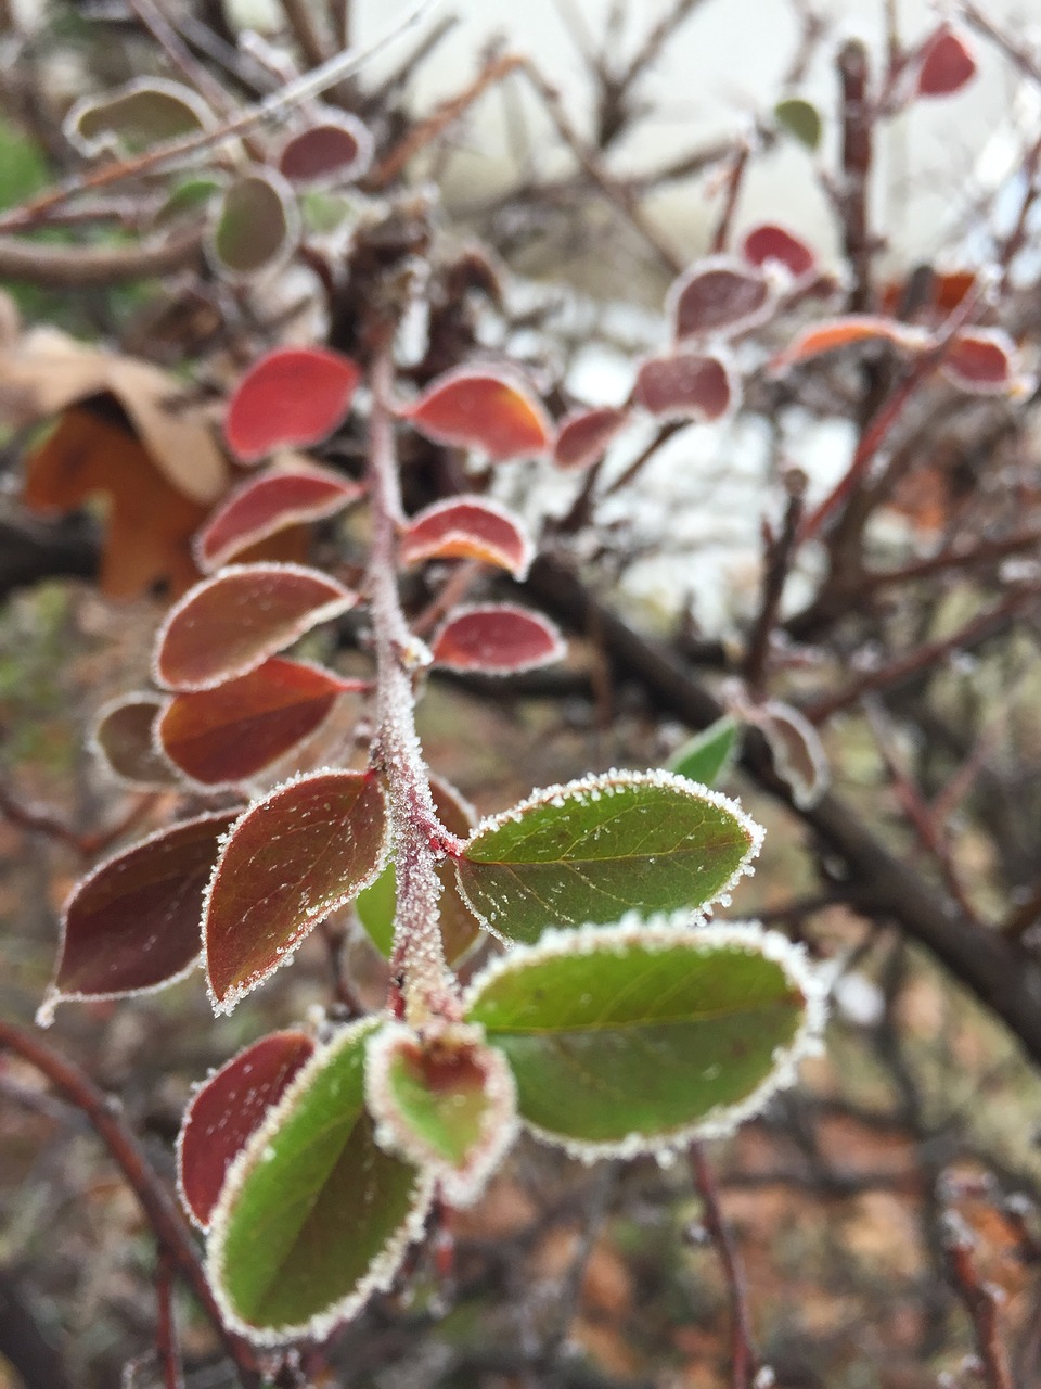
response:
<path id="1" fill-rule="evenodd" d="M 483 560 L 523 579 L 534 546 L 505 507 L 483 497 L 450 497 L 412 517 L 401 536 L 401 558 L 405 564 Z"/>

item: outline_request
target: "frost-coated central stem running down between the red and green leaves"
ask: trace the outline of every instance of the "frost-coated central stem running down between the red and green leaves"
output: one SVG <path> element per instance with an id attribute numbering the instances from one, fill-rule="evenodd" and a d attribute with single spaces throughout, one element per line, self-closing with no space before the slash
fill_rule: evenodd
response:
<path id="1" fill-rule="evenodd" d="M 405 1018 L 461 1017 L 455 976 L 441 945 L 436 867 L 452 836 L 441 825 L 430 795 L 430 779 L 415 731 L 412 676 L 429 660 L 401 610 L 397 588 L 397 524 L 403 518 L 401 485 L 390 413 L 393 364 L 380 353 L 372 372 L 369 421 L 369 485 L 372 554 L 368 589 L 376 642 L 378 731 L 373 757 L 386 776 L 394 845 L 397 911 L 391 978 L 404 999 Z"/>

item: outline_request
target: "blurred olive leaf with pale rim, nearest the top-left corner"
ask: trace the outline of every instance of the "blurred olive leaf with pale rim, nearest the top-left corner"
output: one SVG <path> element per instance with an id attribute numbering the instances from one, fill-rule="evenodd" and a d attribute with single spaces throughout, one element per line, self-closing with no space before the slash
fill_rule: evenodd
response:
<path id="1" fill-rule="evenodd" d="M 135 78 L 100 97 L 81 97 L 62 124 L 71 144 L 92 158 L 140 154 L 153 144 L 214 126 L 214 113 L 192 88 L 167 78 Z"/>

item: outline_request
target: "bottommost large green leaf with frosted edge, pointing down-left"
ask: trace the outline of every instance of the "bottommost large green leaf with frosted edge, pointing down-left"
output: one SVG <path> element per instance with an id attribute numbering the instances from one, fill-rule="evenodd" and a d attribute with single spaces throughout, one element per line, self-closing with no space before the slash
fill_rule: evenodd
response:
<path id="1" fill-rule="evenodd" d="M 433 1181 L 384 1153 L 365 1110 L 372 1018 L 297 1072 L 232 1164 L 211 1213 L 207 1275 L 226 1324 L 260 1345 L 326 1338 L 390 1286 Z"/>

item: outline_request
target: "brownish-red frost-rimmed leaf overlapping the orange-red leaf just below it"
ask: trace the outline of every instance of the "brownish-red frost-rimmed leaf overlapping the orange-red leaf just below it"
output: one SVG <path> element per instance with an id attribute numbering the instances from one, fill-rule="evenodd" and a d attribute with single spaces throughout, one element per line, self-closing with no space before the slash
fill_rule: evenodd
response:
<path id="1" fill-rule="evenodd" d="M 255 669 L 357 594 L 296 564 L 233 564 L 190 589 L 155 636 L 153 674 L 172 690 L 205 690 Z"/>

